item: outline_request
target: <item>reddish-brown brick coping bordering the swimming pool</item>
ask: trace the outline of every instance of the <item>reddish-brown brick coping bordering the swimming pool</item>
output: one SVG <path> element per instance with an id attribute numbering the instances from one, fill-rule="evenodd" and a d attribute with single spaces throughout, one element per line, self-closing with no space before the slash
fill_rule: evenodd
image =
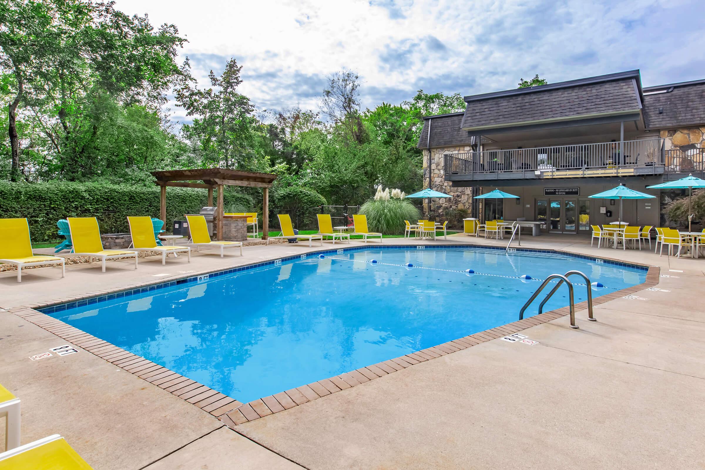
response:
<path id="1" fill-rule="evenodd" d="M 392 245 L 386 246 L 391 247 Z M 427 246 L 448 248 L 446 245 Z M 404 249 L 410 248 L 410 246 L 405 245 L 396 245 L 396 247 L 401 247 Z M 472 245 L 472 247 L 494 248 L 485 247 L 483 245 Z M 369 247 L 362 247 L 362 249 L 365 248 Z M 357 251 L 357 249 L 360 249 L 360 247 L 355 247 L 355 251 Z M 330 251 L 331 250 L 318 250 L 317 252 L 309 252 L 307 254 L 319 254 L 321 252 Z M 594 256 L 575 254 L 560 249 L 517 249 L 517 251 L 553 252 L 568 254 L 579 258 L 595 259 Z M 295 258 L 298 258 L 298 256 L 289 256 L 283 259 Z M 236 269 L 240 271 L 241 269 L 250 266 L 272 264 L 276 259 L 282 258 L 273 258 L 271 261 L 258 261 L 255 263 L 244 264 L 238 266 Z M 602 295 L 600 297 L 595 297 L 592 301 L 594 305 L 603 304 L 605 302 L 609 302 L 610 300 L 617 299 L 625 295 L 630 295 L 633 292 L 638 292 L 639 290 L 644 290 L 648 287 L 654 287 L 654 285 L 658 284 L 661 271 L 657 266 L 647 266 L 639 263 L 625 263 L 624 261 L 618 259 L 610 259 L 602 256 L 599 259 L 611 261 L 613 264 L 618 264 L 620 266 L 639 266 L 642 268 L 647 268 L 648 271 L 646 272 L 646 280 L 644 283 L 626 287 L 625 289 L 616 290 L 615 292 L 611 292 L 610 294 Z M 137 354 L 123 350 L 121 347 L 112 345 L 107 341 L 101 340 L 100 338 L 90 335 L 89 333 L 85 333 L 85 331 L 68 325 L 68 323 L 64 323 L 59 319 L 54 319 L 53 317 L 37 310 L 56 306 L 57 304 L 82 301 L 89 302 L 88 299 L 95 299 L 103 296 L 107 297 L 109 295 L 115 295 L 118 292 L 135 292 L 135 290 L 137 292 L 149 292 L 151 290 L 156 290 L 156 287 L 154 287 L 155 285 L 164 285 L 166 283 L 168 283 L 168 285 L 175 285 L 177 281 L 180 281 L 179 283 L 188 282 L 188 280 L 191 280 L 197 276 L 211 273 L 224 273 L 226 271 L 235 271 L 235 268 L 232 270 L 227 268 L 219 268 L 211 271 L 188 273 L 188 275 L 181 274 L 179 276 L 168 276 L 146 283 L 133 284 L 126 287 L 119 287 L 99 292 L 89 292 L 82 296 L 55 299 L 44 304 L 29 304 L 22 307 L 9 309 L 8 312 L 16 314 L 23 319 L 34 323 L 40 328 L 49 331 L 50 333 L 54 333 L 54 335 L 59 336 L 59 338 L 62 338 L 67 342 L 71 342 L 71 344 L 80 347 L 82 350 L 91 352 L 97 357 L 105 359 L 111 364 L 133 373 L 135 376 L 142 378 L 149 383 L 153 383 L 159 388 L 167 390 L 168 392 L 171 392 L 171 394 L 176 395 L 191 404 L 195 404 L 200 409 L 203 409 L 204 412 L 212 414 L 216 418 L 223 421 L 223 423 L 229 427 L 237 426 L 238 424 L 242 424 L 247 421 L 253 421 L 255 419 L 268 416 L 269 414 L 283 412 L 285 409 L 290 409 L 300 404 L 317 400 L 320 397 L 331 395 L 331 393 L 340 392 L 346 388 L 355 387 L 356 385 L 372 381 L 375 378 L 386 376 L 389 373 L 400 371 L 409 366 L 420 364 L 431 359 L 436 359 L 437 357 L 445 356 L 447 354 L 452 354 L 456 351 L 465 350 L 468 347 L 479 345 L 482 342 L 496 338 L 501 338 L 505 335 L 511 335 L 527 328 L 531 328 L 532 326 L 537 326 L 541 323 L 558 319 L 570 313 L 569 307 L 561 307 L 560 309 L 547 311 L 520 321 L 513 321 L 512 323 L 507 323 L 503 326 L 489 328 L 488 330 L 473 333 L 472 335 L 467 335 L 456 340 L 444 342 L 441 345 L 428 347 L 417 352 L 411 352 L 395 359 L 381 361 L 377 364 L 372 364 L 360 369 L 355 369 L 354 371 L 345 372 L 338 376 L 324 378 L 314 383 L 309 383 L 297 388 L 278 392 L 274 395 L 269 395 L 267 397 L 259 398 L 252 402 L 243 404 L 242 402 L 235 400 L 233 397 L 229 397 L 228 395 L 224 395 L 221 392 L 217 392 L 216 390 L 209 388 L 207 385 L 192 381 L 190 378 L 171 371 L 171 369 L 160 366 L 159 364 L 149 361 L 149 359 L 145 359 Z M 149 289 L 149 287 L 153 288 Z M 576 312 L 586 308 L 587 301 L 575 304 Z"/>

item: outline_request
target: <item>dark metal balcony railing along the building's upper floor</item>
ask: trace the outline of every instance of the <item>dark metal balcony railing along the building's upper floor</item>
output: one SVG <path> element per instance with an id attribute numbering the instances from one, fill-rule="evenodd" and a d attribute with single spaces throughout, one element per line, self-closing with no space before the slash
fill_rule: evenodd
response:
<path id="1" fill-rule="evenodd" d="M 665 159 L 664 140 L 651 139 L 446 154 L 443 163 L 446 175 L 501 179 L 663 173 Z"/>

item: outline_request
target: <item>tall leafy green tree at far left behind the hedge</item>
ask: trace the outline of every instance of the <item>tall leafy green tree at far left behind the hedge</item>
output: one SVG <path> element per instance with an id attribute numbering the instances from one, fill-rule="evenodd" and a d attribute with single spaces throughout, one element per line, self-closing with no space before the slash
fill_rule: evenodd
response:
<path id="1" fill-rule="evenodd" d="M 11 178 L 20 168 L 17 119 L 32 121 L 47 147 L 28 162 L 61 178 L 91 178 L 103 155 L 95 150 L 114 106 L 158 111 L 184 72 L 175 62 L 185 39 L 174 25 L 157 30 L 147 17 L 129 17 L 113 2 L 8 0 L 0 8 L 0 68 L 9 86 Z"/>

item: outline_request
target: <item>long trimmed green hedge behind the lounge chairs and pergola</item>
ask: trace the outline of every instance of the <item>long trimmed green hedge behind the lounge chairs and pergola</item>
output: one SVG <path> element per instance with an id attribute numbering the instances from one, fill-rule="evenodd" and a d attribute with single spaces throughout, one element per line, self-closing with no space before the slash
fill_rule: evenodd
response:
<path id="1" fill-rule="evenodd" d="M 214 199 L 216 195 L 214 194 Z M 252 198 L 227 188 L 226 206 L 237 204 L 255 209 Z M 198 214 L 208 202 L 207 190 L 187 187 L 166 189 L 166 230 Z M 0 182 L 0 217 L 26 217 L 32 242 L 57 240 L 56 221 L 66 217 L 95 216 L 101 233 L 128 232 L 127 216 L 159 217 L 159 187 L 109 185 L 105 183 L 8 183 Z"/>

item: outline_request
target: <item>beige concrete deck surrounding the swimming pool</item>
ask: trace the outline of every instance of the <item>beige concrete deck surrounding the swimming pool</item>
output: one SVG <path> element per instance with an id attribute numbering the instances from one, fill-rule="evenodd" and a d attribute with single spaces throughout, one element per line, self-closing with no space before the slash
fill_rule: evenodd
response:
<path id="1" fill-rule="evenodd" d="M 458 235 L 436 243 L 505 242 Z M 422 242 L 385 240 L 392 244 Z M 364 244 L 340 247 L 356 245 Z M 490 340 L 243 423 L 236 433 L 88 352 L 30 361 L 66 341 L 8 312 L 0 312 L 0 383 L 23 400 L 23 443 L 61 433 L 97 469 L 217 469 L 233 462 L 243 469 L 702 466 L 705 259 L 597 249 L 553 236 L 523 237 L 522 247 L 651 264 L 672 277 L 637 294 L 647 300 L 596 306 L 595 323 L 578 312 L 580 330 L 562 317 L 522 331 L 538 345 Z M 245 247 L 243 257 L 195 254 L 190 264 L 180 258 L 166 266 L 140 260 L 137 270 L 114 262 L 106 273 L 97 265 L 67 266 L 63 279 L 45 268 L 27 271 L 21 284 L 1 273 L 0 307 L 319 249 Z"/>

